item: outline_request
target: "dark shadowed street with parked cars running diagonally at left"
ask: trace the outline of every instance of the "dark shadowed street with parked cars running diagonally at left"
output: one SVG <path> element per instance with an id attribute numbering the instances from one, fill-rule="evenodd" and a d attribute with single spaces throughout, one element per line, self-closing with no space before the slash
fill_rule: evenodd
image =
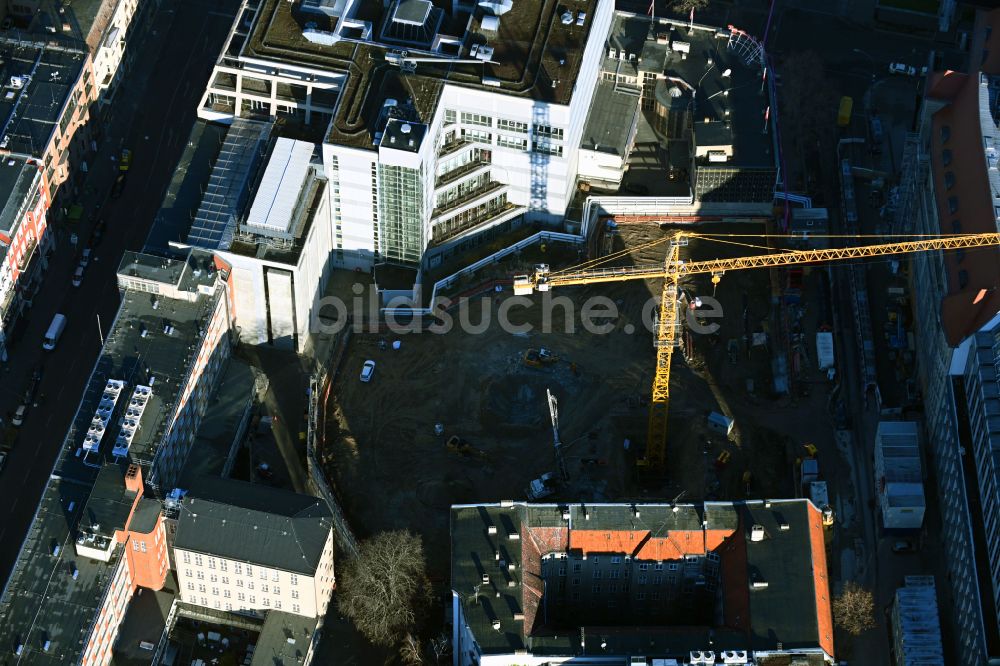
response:
<path id="1" fill-rule="evenodd" d="M 206 12 L 206 5 L 210 11 Z M 233 0 L 171 0 L 163 2 L 148 23 L 150 32 L 137 35 L 132 71 L 123 81 L 107 133 L 83 188 L 85 210 L 96 210 L 106 222 L 103 241 L 79 288 L 70 285 L 76 252 L 69 242 L 76 232 L 81 243 L 92 223 L 82 228 L 55 225 L 56 250 L 24 333 L 0 375 L 0 414 L 13 411 L 32 371 L 44 368 L 39 393 L 45 400 L 29 412 L 18 445 L 8 456 L 0 483 L 0 575 L 10 574 L 34 515 L 56 454 L 76 412 L 101 347 L 118 311 L 116 271 L 126 250 L 141 249 L 212 64 L 232 25 Z M 109 198 L 118 173 L 112 157 L 122 147 L 132 149 L 127 185 L 117 200 Z M 86 218 L 86 216 L 85 216 Z M 66 331 L 53 352 L 43 352 L 42 336 L 52 316 L 64 313 Z M 100 333 L 98 326 L 100 326 Z"/>

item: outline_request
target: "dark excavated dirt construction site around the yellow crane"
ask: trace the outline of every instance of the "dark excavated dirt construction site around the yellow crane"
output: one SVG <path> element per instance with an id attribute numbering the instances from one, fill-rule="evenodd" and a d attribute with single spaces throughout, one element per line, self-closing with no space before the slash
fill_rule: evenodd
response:
<path id="1" fill-rule="evenodd" d="M 676 233 L 655 223 L 602 231 L 591 256 L 618 253 L 607 264 L 618 266 L 662 266 Z M 693 239 L 681 248 L 685 261 L 760 254 L 766 243 L 743 236 L 763 236 L 763 225 L 698 232 L 719 240 Z M 577 254 L 546 258 L 555 270 L 557 257 L 572 257 L 569 265 Z M 476 277 L 509 285 L 532 270 L 536 256 L 513 257 Z M 793 363 L 805 388 L 789 388 L 775 362 L 790 346 L 775 335 L 782 276 L 757 269 L 728 273 L 718 284 L 710 275 L 681 281 L 684 323 L 662 470 L 651 474 L 637 462 L 645 455 L 663 280 L 637 279 L 530 297 L 493 287 L 467 302 L 468 314 L 453 309 L 446 333 L 425 326 L 419 334 L 353 334 L 326 405 L 327 478 L 362 536 L 418 530 L 432 574 L 441 577 L 452 504 L 795 496 L 803 442 L 832 445 L 834 423 L 825 417 L 830 382 L 808 350 Z M 820 284 L 814 275 L 805 282 Z M 509 325 L 499 321 L 505 303 Z M 586 330 L 585 315 L 591 329 L 606 330 Z M 718 329 L 704 332 L 713 323 Z M 367 361 L 374 370 L 365 381 Z"/>

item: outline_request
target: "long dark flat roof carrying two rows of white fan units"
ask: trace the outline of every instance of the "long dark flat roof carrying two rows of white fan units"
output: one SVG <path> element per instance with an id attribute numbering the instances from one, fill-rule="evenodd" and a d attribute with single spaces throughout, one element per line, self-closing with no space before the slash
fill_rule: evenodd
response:
<path id="1" fill-rule="evenodd" d="M 90 527 L 97 522 L 104 533 L 123 522 L 123 483 L 109 474 L 120 470 L 124 478 L 127 463 L 148 468 L 168 425 L 176 393 L 187 375 L 190 346 L 199 339 L 198 326 L 219 297 L 198 289 L 209 279 L 204 273 L 192 274 L 197 270 L 193 267 L 207 256 L 199 252 L 195 250 L 194 259 L 183 261 L 134 252 L 126 253 L 122 260 L 120 271 L 143 279 L 163 279 L 165 284 L 186 292 L 192 300 L 131 289 L 122 296 L 118 316 L 107 334 L 0 598 L 0 644 L 23 643 L 22 659 L 40 664 L 67 664 L 80 657 L 121 549 L 116 547 L 107 563 L 77 557 L 74 547 L 77 529 L 81 523 Z M 158 302 L 156 307 L 154 297 Z M 169 334 L 164 332 L 167 323 L 172 328 Z M 125 398 L 137 383 L 153 387 L 153 397 L 143 413 L 128 456 L 117 461 L 111 454 L 117 433 L 111 428 L 97 454 L 81 454 L 84 433 L 108 379 L 121 379 L 128 384 L 123 391 Z M 127 400 L 119 400 L 119 409 L 124 402 Z M 117 418 L 113 417 L 111 422 L 115 424 L 113 428 L 118 427 Z M 157 502 L 141 499 L 133 526 L 140 531 L 142 527 L 151 529 L 157 513 Z M 74 567 L 79 570 L 75 580 Z M 47 652 L 42 649 L 46 640 L 51 641 Z"/>

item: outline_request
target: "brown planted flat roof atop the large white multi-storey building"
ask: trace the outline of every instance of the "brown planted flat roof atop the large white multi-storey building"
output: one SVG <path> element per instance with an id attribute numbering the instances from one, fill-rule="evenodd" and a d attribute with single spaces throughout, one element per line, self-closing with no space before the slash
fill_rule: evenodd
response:
<path id="1" fill-rule="evenodd" d="M 437 28 L 440 34 L 460 44 L 462 58 L 468 58 L 473 45 L 488 41 L 494 48 L 490 63 L 417 64 L 416 72 L 399 81 L 392 92 L 386 90 L 399 69 L 386 62 L 389 51 L 407 49 L 403 43 L 361 43 L 340 40 L 333 45 L 309 42 L 302 35 L 307 22 L 315 14 L 301 12 L 292 3 L 282 0 L 262 0 L 250 34 L 240 47 L 240 57 L 266 59 L 278 63 L 305 66 L 347 74 L 330 126 L 328 140 L 332 143 L 371 149 L 373 125 L 386 98 L 400 98 L 406 93 L 414 102 L 415 120 L 429 121 L 437 105 L 444 82 L 452 85 L 485 89 L 491 92 L 527 97 L 553 104 L 568 104 L 583 59 L 597 0 L 574 3 L 574 20 L 563 23 L 564 4 L 559 0 L 514 2 L 510 11 L 500 17 L 499 30 L 484 31 L 482 14 L 453 12 L 450 1 L 430 3 L 443 12 Z M 412 7 L 411 7 L 412 5 Z M 402 3 L 398 11 L 404 17 L 417 16 L 426 5 Z M 390 8 L 380 2 L 356 2 L 353 16 L 339 17 L 334 29 L 343 29 L 345 19 L 367 22 L 373 35 L 391 21 Z M 584 24 L 577 25 L 580 13 Z M 468 28 L 468 30 L 466 30 Z M 489 32 L 489 38 L 486 37 Z M 603 38 L 603 35 L 602 35 Z M 417 55 L 430 55 L 423 52 Z M 441 56 L 442 54 L 435 54 Z M 447 57 L 447 55 L 444 55 Z M 483 85 L 484 78 L 498 82 L 498 87 Z M 402 90 L 400 90 L 400 88 Z"/>

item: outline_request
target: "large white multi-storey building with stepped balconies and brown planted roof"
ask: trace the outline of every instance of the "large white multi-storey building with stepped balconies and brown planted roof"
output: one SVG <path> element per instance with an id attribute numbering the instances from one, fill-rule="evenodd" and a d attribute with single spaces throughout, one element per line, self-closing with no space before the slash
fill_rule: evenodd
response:
<path id="1" fill-rule="evenodd" d="M 328 126 L 335 265 L 434 268 L 561 224 L 612 14 L 610 0 L 246 3 L 199 115 Z"/>

